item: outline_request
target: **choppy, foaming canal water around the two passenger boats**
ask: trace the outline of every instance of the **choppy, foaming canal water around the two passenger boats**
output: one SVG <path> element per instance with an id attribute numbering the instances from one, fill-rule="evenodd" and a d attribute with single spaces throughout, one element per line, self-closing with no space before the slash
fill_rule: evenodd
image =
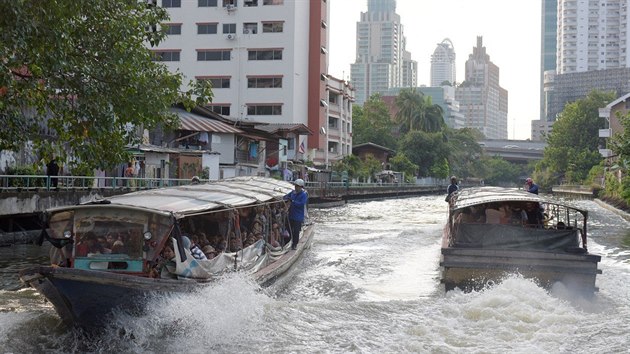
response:
<path id="1" fill-rule="evenodd" d="M 231 276 L 150 298 L 148 314 L 119 314 L 98 336 L 59 325 L 39 294 L 19 289 L 15 272 L 45 262 L 45 249 L 0 249 L 0 352 L 627 353 L 630 223 L 579 203 L 590 211 L 589 250 L 603 255 L 593 299 L 518 275 L 445 294 L 443 196 L 311 210 L 312 248 L 274 286 Z"/>

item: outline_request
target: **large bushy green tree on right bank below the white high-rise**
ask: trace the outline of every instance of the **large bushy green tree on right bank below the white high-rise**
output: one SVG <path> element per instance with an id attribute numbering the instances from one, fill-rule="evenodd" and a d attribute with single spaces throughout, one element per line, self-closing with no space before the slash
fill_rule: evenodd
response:
<path id="1" fill-rule="evenodd" d="M 547 139 L 537 173 L 551 176 L 550 183 L 562 180 L 582 183 L 589 170 L 601 160 L 598 130 L 604 126 L 599 108 L 615 98 L 614 93 L 592 91 L 583 99 L 565 106 Z"/>

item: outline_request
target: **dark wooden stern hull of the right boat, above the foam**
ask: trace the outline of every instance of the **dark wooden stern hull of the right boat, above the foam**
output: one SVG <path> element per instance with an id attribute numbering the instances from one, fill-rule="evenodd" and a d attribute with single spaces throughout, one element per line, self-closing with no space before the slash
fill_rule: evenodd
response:
<path id="1" fill-rule="evenodd" d="M 597 269 L 600 260 L 601 256 L 592 254 L 442 248 L 441 282 L 447 291 L 470 291 L 500 282 L 509 274 L 519 274 L 545 288 L 562 283 L 571 291 L 588 296 L 597 291 L 595 278 L 601 274 Z"/>

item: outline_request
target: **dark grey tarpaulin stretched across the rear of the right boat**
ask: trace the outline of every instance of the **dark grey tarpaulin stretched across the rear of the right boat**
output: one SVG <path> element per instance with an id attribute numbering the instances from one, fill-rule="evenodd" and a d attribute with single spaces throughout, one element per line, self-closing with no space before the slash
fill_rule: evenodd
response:
<path id="1" fill-rule="evenodd" d="M 454 247 L 567 250 L 580 247 L 578 230 L 538 229 L 501 224 L 456 225 Z"/>

